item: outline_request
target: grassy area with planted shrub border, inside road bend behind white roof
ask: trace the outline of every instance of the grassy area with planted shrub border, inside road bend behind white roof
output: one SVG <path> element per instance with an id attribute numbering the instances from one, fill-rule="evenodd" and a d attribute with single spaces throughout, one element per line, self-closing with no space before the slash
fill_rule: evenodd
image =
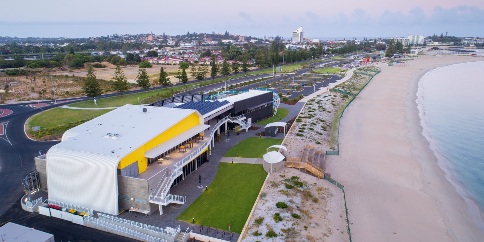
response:
<path id="1" fill-rule="evenodd" d="M 66 130 L 101 116 L 111 110 L 82 110 L 55 107 L 30 117 L 28 120 L 29 125 L 26 128 L 30 135 L 35 138 L 59 137 Z M 32 127 L 35 126 L 40 126 L 40 132 L 32 131 Z"/>

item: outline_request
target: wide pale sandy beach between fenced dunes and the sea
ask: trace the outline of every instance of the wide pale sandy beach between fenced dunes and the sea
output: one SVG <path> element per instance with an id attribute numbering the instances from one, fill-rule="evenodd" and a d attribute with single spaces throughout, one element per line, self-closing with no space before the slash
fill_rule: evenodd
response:
<path id="1" fill-rule="evenodd" d="M 482 61 L 463 56 L 419 56 L 408 66 L 379 66 L 348 106 L 340 125 L 340 155 L 327 156 L 327 172 L 345 186 L 355 242 L 482 241 L 463 191 L 422 135 L 415 102 L 428 71 Z M 451 181 L 449 181 L 450 179 Z M 474 216 L 473 216 L 474 215 Z M 475 219 L 477 217 L 477 219 Z"/>

